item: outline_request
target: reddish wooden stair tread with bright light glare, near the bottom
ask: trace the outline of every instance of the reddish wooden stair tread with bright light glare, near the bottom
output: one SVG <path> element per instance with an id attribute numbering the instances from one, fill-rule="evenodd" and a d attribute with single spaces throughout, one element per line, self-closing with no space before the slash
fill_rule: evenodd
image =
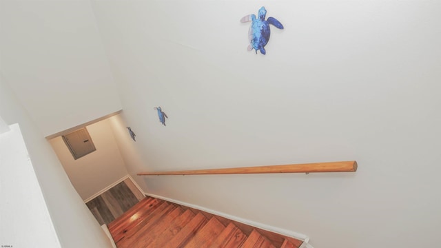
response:
<path id="1" fill-rule="evenodd" d="M 156 204 L 147 205 L 148 208 L 142 209 L 140 212 L 137 212 L 132 217 L 127 218 L 121 225 L 114 227 L 114 229 L 109 230 L 110 234 L 115 242 L 119 242 L 123 236 L 127 234 L 127 232 L 136 231 L 141 228 L 143 223 L 150 220 L 153 217 L 153 214 L 156 212 L 160 212 L 164 209 L 168 204 L 163 200 L 156 201 Z"/>

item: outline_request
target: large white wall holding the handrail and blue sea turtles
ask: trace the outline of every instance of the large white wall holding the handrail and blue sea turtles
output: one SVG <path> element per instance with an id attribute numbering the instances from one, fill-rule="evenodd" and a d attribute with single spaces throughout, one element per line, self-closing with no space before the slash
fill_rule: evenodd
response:
<path id="1" fill-rule="evenodd" d="M 247 52 L 249 25 L 239 22 L 260 6 L 285 25 L 271 29 L 265 56 Z M 136 158 L 121 149 L 134 161 L 126 161 L 132 176 L 353 159 L 360 165 L 350 174 L 135 176 L 145 192 L 307 234 L 314 247 L 437 242 L 439 1 L 92 7 L 119 88 L 119 121 L 138 137 Z M 167 127 L 158 123 L 157 105 L 170 117 Z"/>

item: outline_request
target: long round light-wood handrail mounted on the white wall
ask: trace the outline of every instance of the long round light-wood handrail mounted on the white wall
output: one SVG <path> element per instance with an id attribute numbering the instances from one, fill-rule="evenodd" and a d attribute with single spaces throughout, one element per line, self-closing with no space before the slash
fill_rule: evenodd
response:
<path id="1" fill-rule="evenodd" d="M 224 169 L 195 169 L 174 172 L 141 172 L 138 176 L 162 175 L 209 175 L 209 174 L 267 174 L 267 173 L 309 173 L 309 172 L 356 172 L 356 161 L 307 163 L 294 165 L 267 165 Z"/>

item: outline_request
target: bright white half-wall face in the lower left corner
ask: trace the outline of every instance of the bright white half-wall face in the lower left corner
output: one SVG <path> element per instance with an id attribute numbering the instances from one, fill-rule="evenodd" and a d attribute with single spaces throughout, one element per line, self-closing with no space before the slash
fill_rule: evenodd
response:
<path id="1" fill-rule="evenodd" d="M 35 247 L 44 244 L 47 247 L 61 247 L 20 127 L 18 124 L 11 127 L 10 132 L 0 134 L 2 246 Z M 17 178 L 21 181 L 17 182 Z"/>

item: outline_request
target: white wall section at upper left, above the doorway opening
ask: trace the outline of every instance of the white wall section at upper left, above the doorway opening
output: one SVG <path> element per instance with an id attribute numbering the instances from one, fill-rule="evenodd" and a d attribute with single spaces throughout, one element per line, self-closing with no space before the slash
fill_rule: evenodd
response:
<path id="1" fill-rule="evenodd" d="M 121 110 L 88 0 L 0 3 L 3 76 L 44 136 Z"/>

